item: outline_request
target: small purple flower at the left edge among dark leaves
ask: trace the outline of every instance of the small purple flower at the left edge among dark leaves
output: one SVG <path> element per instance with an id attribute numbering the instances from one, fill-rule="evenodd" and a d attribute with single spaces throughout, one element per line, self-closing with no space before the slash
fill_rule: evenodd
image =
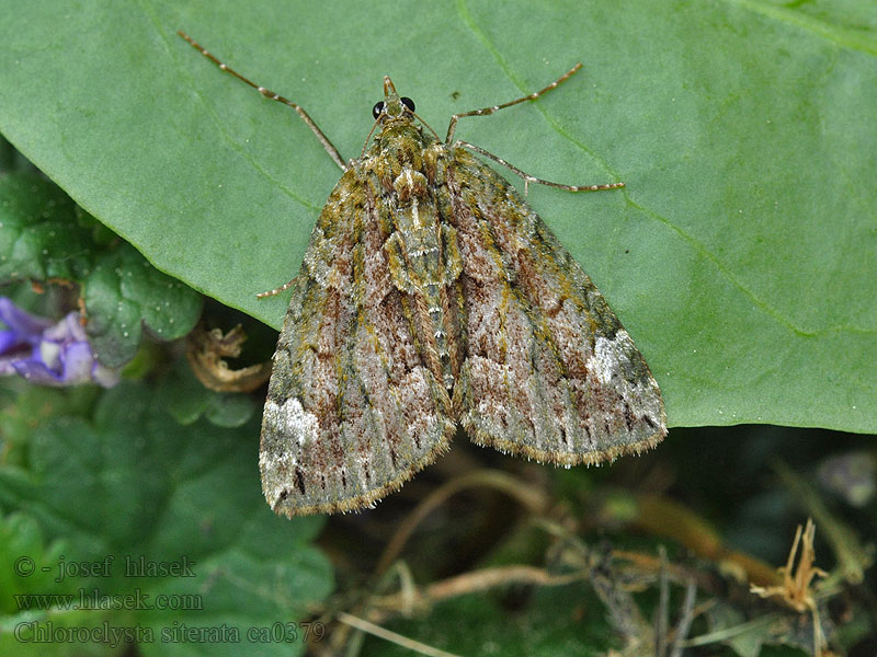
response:
<path id="1" fill-rule="evenodd" d="M 42 385 L 118 383 L 118 372 L 94 357 L 78 312 L 53 325 L 0 297 L 0 322 L 7 326 L 0 328 L 0 374 L 18 373 Z"/>

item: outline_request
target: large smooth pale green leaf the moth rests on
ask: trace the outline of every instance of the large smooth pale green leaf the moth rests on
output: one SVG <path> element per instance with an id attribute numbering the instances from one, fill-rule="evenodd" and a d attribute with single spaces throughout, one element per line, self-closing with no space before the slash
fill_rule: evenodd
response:
<path id="1" fill-rule="evenodd" d="M 278 326 L 381 76 L 531 192 L 630 330 L 673 425 L 877 429 L 877 37 L 870 3 L 0 2 L 0 130 L 158 268 Z"/>

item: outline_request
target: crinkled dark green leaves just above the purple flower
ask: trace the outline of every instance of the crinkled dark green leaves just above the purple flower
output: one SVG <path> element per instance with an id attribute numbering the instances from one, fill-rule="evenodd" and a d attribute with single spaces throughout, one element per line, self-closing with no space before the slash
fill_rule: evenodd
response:
<path id="1" fill-rule="evenodd" d="M 192 330 L 201 315 L 200 295 L 158 272 L 130 245 L 100 243 L 94 220 L 49 181 L 32 173 L 0 177 L 0 284 L 81 285 L 87 332 L 109 367 L 134 358 L 144 331 L 170 341 Z"/>

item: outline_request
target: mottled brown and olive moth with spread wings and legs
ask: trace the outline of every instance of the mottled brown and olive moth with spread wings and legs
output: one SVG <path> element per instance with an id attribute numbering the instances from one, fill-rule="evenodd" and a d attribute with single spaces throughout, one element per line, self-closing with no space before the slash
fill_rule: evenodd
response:
<path id="1" fill-rule="evenodd" d="M 285 516 L 374 505 L 448 449 L 471 440 L 556 465 L 639 453 L 667 434 L 658 384 L 579 264 L 517 191 L 455 140 L 457 120 L 537 99 L 545 89 L 451 119 L 438 135 L 389 77 L 360 158 L 342 169 L 292 289 L 262 418 L 259 466 Z"/>

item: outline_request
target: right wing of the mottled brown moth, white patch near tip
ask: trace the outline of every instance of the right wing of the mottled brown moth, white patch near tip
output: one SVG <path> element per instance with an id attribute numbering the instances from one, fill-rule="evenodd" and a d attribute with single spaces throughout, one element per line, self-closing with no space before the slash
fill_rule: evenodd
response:
<path id="1" fill-rule="evenodd" d="M 453 150 L 467 351 L 454 407 L 478 443 L 599 463 L 667 434 L 658 384 L 603 296 L 491 168 Z"/>

